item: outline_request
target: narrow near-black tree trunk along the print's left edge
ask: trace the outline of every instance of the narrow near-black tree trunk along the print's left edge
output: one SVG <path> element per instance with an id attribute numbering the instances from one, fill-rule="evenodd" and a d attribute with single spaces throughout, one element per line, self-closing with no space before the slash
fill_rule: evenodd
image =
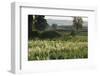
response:
<path id="1" fill-rule="evenodd" d="M 28 38 L 32 36 L 33 15 L 28 15 Z"/>

